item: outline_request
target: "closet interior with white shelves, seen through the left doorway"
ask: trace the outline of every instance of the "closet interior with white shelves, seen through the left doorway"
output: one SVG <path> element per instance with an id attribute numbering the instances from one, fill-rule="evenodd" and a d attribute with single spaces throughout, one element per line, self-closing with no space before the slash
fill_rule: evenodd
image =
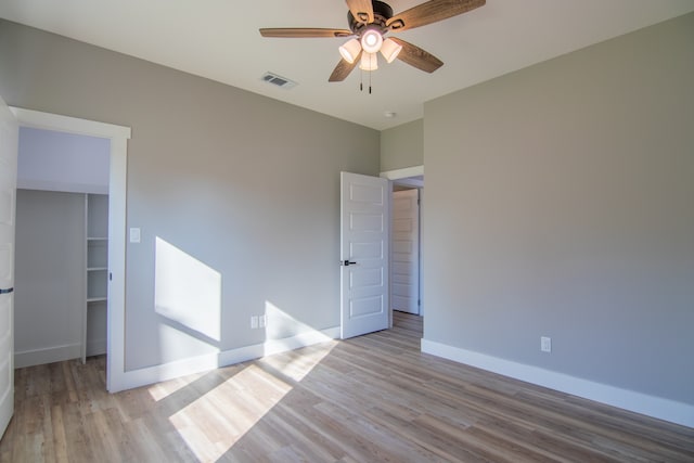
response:
<path id="1" fill-rule="evenodd" d="M 110 143 L 20 129 L 17 368 L 106 352 Z"/>

